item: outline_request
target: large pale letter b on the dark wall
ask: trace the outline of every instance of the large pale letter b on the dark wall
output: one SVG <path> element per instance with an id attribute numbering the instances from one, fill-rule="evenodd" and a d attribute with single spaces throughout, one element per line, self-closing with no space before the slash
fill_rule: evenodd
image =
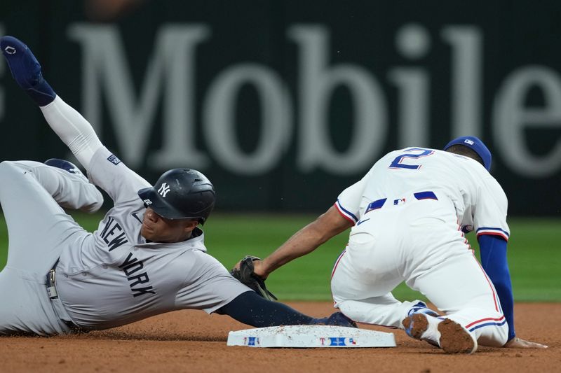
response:
<path id="1" fill-rule="evenodd" d="M 288 36 L 299 45 L 299 169 L 316 168 L 332 174 L 353 174 L 366 169 L 381 151 L 388 126 L 384 94 L 378 83 L 360 66 L 328 66 L 329 31 L 321 26 L 296 25 Z M 337 85 L 346 86 L 353 97 L 355 123 L 340 123 L 353 132 L 345 153 L 330 143 L 327 104 Z"/>

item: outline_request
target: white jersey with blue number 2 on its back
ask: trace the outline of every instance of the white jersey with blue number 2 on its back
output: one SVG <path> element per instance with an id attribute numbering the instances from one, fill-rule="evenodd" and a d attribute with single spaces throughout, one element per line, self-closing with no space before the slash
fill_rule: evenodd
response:
<path id="1" fill-rule="evenodd" d="M 508 202 L 501 185 L 479 162 L 442 150 L 405 148 L 386 154 L 339 195 L 336 206 L 356 224 L 381 207 L 369 206 L 372 202 L 386 198 L 384 204 L 400 204 L 405 195 L 425 190 L 438 190 L 452 200 L 463 232 L 496 234 L 508 241 Z"/>

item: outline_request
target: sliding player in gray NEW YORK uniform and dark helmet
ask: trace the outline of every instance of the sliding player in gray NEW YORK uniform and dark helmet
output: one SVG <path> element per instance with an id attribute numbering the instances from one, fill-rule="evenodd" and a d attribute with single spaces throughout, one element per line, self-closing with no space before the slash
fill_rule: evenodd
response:
<path id="1" fill-rule="evenodd" d="M 151 186 L 55 94 L 25 44 L 4 36 L 0 48 L 18 85 L 114 201 L 99 229 L 88 233 L 60 207 L 102 206 L 102 195 L 74 164 L 0 163 L 9 234 L 8 262 L 0 272 L 0 335 L 102 330 L 177 309 L 227 314 L 255 327 L 354 325 L 339 312 L 329 318 L 300 314 L 234 279 L 206 253 L 199 227 L 215 204 L 208 178 L 173 169 Z"/>

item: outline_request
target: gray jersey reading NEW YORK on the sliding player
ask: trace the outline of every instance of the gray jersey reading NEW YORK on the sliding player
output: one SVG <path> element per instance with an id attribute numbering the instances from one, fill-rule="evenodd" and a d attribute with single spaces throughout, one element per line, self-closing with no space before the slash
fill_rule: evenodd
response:
<path id="1" fill-rule="evenodd" d="M 90 179 L 114 200 L 99 229 L 63 249 L 56 267 L 60 300 L 74 323 L 105 329 L 176 309 L 219 309 L 250 290 L 206 253 L 203 232 L 173 244 L 140 235 L 150 184 L 106 148 L 95 153 Z"/>

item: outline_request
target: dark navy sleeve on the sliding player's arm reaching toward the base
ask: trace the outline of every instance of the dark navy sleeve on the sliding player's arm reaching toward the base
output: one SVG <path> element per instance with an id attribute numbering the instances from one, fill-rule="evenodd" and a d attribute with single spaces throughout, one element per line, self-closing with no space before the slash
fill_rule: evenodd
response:
<path id="1" fill-rule="evenodd" d="M 216 312 L 226 314 L 240 323 L 252 325 L 255 328 L 276 325 L 308 325 L 314 320 L 286 304 L 265 300 L 255 291 L 241 293 Z"/>

